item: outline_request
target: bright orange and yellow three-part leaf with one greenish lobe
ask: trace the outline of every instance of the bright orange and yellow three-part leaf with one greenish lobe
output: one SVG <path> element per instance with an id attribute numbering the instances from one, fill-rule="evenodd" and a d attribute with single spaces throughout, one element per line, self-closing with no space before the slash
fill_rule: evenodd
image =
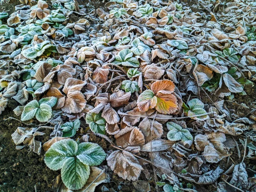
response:
<path id="1" fill-rule="evenodd" d="M 138 97 L 137 105 L 141 112 L 156 108 L 159 113 L 172 114 L 177 111 L 177 97 L 173 94 L 175 84 L 170 80 L 155 81 L 151 90 L 145 90 Z"/>

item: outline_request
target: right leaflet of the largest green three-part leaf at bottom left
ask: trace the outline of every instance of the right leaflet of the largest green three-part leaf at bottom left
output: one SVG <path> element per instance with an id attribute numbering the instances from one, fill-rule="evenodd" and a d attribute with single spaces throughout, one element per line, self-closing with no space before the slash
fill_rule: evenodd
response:
<path id="1" fill-rule="evenodd" d="M 89 166 L 97 166 L 105 160 L 104 150 L 96 143 L 80 143 L 78 145 L 77 158 Z"/>

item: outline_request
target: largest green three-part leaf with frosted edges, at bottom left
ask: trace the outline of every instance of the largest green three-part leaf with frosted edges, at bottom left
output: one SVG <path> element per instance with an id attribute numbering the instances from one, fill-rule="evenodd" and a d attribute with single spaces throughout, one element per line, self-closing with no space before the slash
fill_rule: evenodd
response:
<path id="1" fill-rule="evenodd" d="M 52 170 L 61 169 L 61 179 L 71 190 L 81 189 L 90 175 L 90 166 L 105 160 L 106 154 L 96 143 L 80 143 L 67 139 L 54 143 L 46 152 L 45 164 Z"/>

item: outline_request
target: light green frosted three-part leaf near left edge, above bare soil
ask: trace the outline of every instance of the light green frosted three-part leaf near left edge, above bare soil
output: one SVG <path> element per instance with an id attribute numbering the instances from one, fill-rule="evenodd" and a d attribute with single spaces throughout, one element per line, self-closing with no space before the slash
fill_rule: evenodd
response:
<path id="1" fill-rule="evenodd" d="M 56 97 L 45 97 L 29 102 L 21 114 L 21 121 L 27 121 L 34 116 L 40 122 L 47 122 L 52 116 L 52 107 L 57 103 Z"/>

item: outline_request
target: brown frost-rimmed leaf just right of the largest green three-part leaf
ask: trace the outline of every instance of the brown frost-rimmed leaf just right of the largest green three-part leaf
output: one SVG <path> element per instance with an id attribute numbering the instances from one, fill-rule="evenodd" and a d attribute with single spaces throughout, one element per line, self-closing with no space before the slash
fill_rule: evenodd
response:
<path id="1" fill-rule="evenodd" d="M 137 180 L 143 170 L 137 158 L 126 151 L 113 151 L 107 162 L 114 173 L 127 180 Z"/>

